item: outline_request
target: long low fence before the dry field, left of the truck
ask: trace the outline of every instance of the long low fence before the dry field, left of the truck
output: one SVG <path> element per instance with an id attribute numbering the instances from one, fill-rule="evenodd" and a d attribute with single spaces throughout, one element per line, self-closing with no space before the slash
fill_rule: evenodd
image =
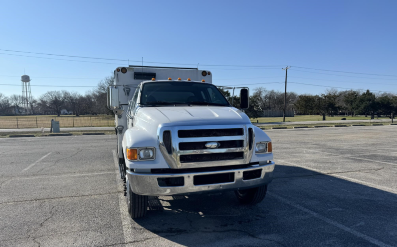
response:
<path id="1" fill-rule="evenodd" d="M 114 127 L 114 116 L 89 117 L 1 117 L 0 129 L 50 128 L 51 119 L 59 121 L 59 127 Z"/>

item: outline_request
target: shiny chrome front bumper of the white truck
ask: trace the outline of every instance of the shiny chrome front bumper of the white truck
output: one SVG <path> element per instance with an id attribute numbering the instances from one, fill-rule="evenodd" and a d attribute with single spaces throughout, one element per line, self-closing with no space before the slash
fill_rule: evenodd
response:
<path id="1" fill-rule="evenodd" d="M 261 169 L 261 176 L 254 179 L 244 180 L 243 172 Z M 153 173 L 135 173 L 127 170 L 127 179 L 132 191 L 138 195 L 151 196 L 169 196 L 196 193 L 216 193 L 219 191 L 248 189 L 258 187 L 271 182 L 273 179 L 274 162 L 266 164 L 252 165 L 246 168 L 227 169 L 219 171 L 187 172 L 178 174 L 153 174 Z M 234 173 L 234 181 L 215 184 L 194 184 L 196 175 L 212 175 L 221 173 Z M 184 177 L 183 186 L 159 186 L 157 178 L 167 177 Z"/>

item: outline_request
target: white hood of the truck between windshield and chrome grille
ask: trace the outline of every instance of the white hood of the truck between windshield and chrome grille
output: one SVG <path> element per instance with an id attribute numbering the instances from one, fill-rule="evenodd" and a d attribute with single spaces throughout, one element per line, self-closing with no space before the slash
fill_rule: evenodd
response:
<path id="1" fill-rule="evenodd" d="M 137 117 L 146 124 L 150 123 L 156 127 L 159 125 L 251 124 L 244 112 L 234 107 L 219 106 L 144 107 L 138 110 Z"/>

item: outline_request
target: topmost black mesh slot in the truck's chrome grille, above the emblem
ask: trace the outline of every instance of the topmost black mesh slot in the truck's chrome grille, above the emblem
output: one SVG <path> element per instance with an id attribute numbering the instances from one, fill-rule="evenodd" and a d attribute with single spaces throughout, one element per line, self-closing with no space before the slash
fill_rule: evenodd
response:
<path id="1" fill-rule="evenodd" d="M 213 137 L 213 136 L 242 136 L 242 128 L 235 129 L 202 129 L 202 130 L 178 130 L 179 138 Z"/>

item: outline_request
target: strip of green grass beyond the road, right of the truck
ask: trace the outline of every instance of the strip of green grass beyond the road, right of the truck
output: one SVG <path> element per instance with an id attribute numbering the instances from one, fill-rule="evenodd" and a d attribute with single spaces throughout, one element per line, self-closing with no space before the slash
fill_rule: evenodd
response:
<path id="1" fill-rule="evenodd" d="M 326 117 L 325 120 L 341 120 L 343 117 L 346 117 L 346 120 L 368 120 L 370 121 L 371 116 L 368 115 L 368 117 L 365 116 L 356 116 L 356 117 L 351 117 L 351 116 L 335 116 L 335 117 Z M 375 120 L 377 118 L 375 117 Z M 390 119 L 388 117 L 380 117 L 378 119 Z M 256 121 L 259 121 L 259 123 L 273 123 L 273 122 L 282 122 L 283 118 L 282 117 L 259 117 L 259 118 L 251 118 L 252 123 L 256 123 Z M 303 122 L 303 121 L 322 121 L 323 116 L 321 115 L 304 115 L 304 116 L 295 116 L 295 117 L 286 117 L 285 122 Z"/>

